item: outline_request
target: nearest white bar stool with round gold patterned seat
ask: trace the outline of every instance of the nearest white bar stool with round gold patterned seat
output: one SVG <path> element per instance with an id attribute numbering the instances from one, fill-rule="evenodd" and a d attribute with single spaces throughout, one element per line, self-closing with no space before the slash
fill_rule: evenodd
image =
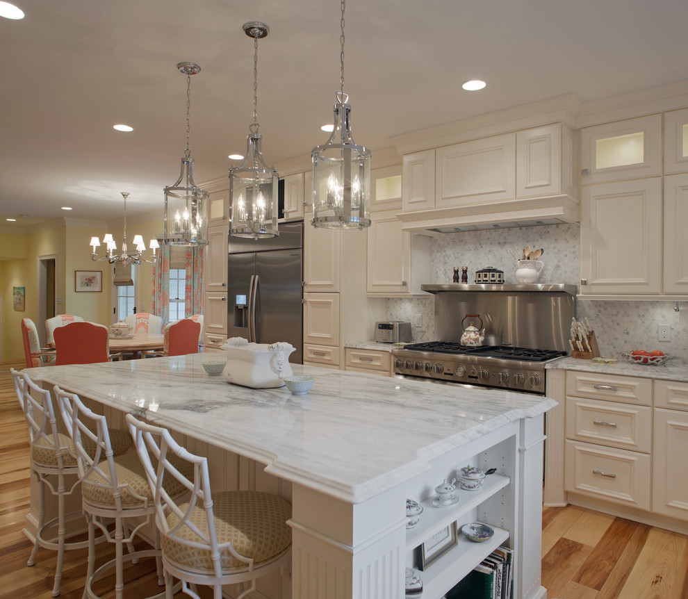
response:
<path id="1" fill-rule="evenodd" d="M 289 563 L 291 506 L 284 498 L 263 491 L 211 493 L 206 457 L 178 445 L 167 429 L 131 414 L 126 422 L 154 497 L 167 599 L 173 577 L 195 598 L 195 584 L 212 586 L 214 599 L 222 598 L 223 584 L 240 584 L 236 599 L 242 599 L 256 589 L 257 578 Z M 191 466 L 190 475 L 174 466 L 174 457 Z M 167 477 L 190 496 L 172 498 L 164 489 Z"/>

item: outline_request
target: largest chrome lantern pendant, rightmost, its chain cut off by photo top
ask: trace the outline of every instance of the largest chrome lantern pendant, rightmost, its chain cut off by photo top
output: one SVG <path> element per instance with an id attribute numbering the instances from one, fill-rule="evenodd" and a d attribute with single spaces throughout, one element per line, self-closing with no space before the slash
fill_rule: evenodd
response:
<path id="1" fill-rule="evenodd" d="M 341 0 L 339 91 L 334 130 L 324 145 L 314 147 L 313 227 L 362 229 L 370 226 L 370 150 L 354 143 L 351 107 L 344 93 L 344 8 Z"/>

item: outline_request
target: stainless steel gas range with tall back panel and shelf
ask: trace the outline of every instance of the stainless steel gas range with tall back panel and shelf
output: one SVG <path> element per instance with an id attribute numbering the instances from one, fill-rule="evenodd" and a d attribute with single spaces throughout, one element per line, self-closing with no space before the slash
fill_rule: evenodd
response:
<path id="1" fill-rule="evenodd" d="M 392 350 L 396 375 L 544 395 L 545 364 L 566 355 L 575 286 L 424 285 L 440 340 Z M 480 314 L 493 345 L 464 347 L 461 320 Z"/>

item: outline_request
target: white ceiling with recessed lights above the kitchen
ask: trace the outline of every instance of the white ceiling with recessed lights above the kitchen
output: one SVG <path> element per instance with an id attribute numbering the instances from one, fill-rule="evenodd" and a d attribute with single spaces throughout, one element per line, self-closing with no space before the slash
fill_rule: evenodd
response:
<path id="1" fill-rule="evenodd" d="M 63 216 L 121 219 L 120 191 L 131 192 L 128 215 L 162 215 L 186 143 L 184 60 L 202 67 L 191 82 L 195 180 L 226 174 L 252 122 L 247 21 L 270 26 L 259 41 L 265 160 L 327 139 L 336 0 L 13 1 L 26 18 L 0 18 L 3 231 Z M 585 102 L 687 80 L 687 27 L 685 0 L 349 0 L 354 140 L 375 151 L 393 135 L 537 99 Z M 475 78 L 487 88 L 461 90 Z M 136 131 L 114 131 L 120 122 Z"/>

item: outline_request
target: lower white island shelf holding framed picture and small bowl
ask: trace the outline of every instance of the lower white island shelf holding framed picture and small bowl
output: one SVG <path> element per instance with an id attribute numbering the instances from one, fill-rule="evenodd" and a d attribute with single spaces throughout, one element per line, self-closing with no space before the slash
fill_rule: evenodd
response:
<path id="1" fill-rule="evenodd" d="M 509 539 L 509 531 L 489 525 L 495 534 L 488 541 L 475 543 L 459 532 L 459 544 L 420 573 L 423 579 L 423 599 L 439 599 Z"/>

